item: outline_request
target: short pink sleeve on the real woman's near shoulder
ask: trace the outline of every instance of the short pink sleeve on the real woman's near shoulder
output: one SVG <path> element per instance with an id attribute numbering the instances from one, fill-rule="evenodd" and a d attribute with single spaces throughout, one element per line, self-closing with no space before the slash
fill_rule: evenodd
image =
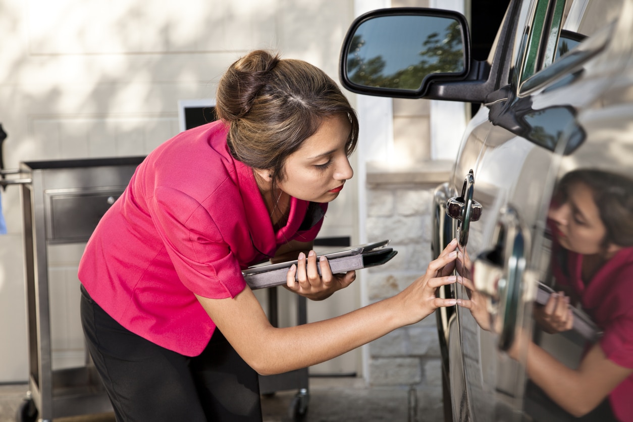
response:
<path id="1" fill-rule="evenodd" d="M 208 211 L 179 190 L 158 187 L 151 214 L 180 281 L 197 295 L 224 299 L 246 282 Z"/>

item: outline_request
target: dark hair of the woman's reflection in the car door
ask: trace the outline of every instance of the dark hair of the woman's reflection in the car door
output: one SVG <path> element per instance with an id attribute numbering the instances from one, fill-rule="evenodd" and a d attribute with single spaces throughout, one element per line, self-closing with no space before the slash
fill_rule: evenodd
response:
<path id="1" fill-rule="evenodd" d="M 561 179 L 555 200 L 563 203 L 575 183 L 583 183 L 592 190 L 600 220 L 606 228 L 603 246 L 610 243 L 633 246 L 633 180 L 602 170 L 570 171 Z"/>

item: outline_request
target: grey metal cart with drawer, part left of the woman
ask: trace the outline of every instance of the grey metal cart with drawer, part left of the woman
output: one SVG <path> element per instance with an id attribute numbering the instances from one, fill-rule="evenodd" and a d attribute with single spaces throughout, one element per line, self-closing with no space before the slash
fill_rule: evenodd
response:
<path id="1" fill-rule="evenodd" d="M 24 221 L 28 394 L 18 422 L 112 410 L 86 352 L 85 366 L 53 369 L 47 247 L 86 242 L 144 157 L 32 161 L 4 170 L 20 185 Z"/>

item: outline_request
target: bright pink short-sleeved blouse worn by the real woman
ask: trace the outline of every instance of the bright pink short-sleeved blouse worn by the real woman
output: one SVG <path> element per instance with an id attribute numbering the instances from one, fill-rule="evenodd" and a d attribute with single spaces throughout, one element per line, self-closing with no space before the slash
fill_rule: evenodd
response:
<path id="1" fill-rule="evenodd" d="M 215 121 L 151 152 L 79 264 L 80 281 L 106 313 L 186 356 L 200 354 L 215 329 L 194 293 L 235 297 L 246 287 L 242 269 L 289 240 L 315 239 L 327 209 L 292 198 L 275 232 L 253 170 L 231 156 L 226 137 Z"/>

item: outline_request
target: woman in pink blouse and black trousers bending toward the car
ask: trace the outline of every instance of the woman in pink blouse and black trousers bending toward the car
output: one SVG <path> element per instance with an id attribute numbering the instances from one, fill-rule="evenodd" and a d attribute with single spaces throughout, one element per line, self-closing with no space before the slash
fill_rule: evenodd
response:
<path id="1" fill-rule="evenodd" d="M 230 66 L 216 113 L 147 156 L 80 263 L 85 336 L 120 421 L 260 421 L 257 373 L 326 361 L 455 303 L 435 297 L 455 280 L 453 242 L 390 299 L 273 328 L 242 269 L 298 257 L 287 289 L 316 300 L 355 278 L 310 249 L 352 177 L 358 122 L 323 71 L 266 51 Z"/>

